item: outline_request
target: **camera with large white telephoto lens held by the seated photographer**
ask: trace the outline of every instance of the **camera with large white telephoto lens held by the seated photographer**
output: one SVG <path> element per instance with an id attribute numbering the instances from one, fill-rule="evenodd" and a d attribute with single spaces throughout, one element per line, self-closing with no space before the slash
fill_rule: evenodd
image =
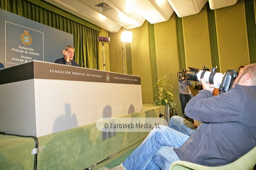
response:
<path id="1" fill-rule="evenodd" d="M 186 79 L 191 81 L 200 81 L 202 78 L 207 83 L 212 84 L 214 88 L 218 88 L 220 92 L 226 92 L 231 88 L 235 77 L 238 77 L 238 73 L 235 70 L 228 70 L 225 74 L 215 72 L 215 68 L 212 69 L 212 72 L 195 69 L 188 67 L 190 70 L 186 72 Z"/>

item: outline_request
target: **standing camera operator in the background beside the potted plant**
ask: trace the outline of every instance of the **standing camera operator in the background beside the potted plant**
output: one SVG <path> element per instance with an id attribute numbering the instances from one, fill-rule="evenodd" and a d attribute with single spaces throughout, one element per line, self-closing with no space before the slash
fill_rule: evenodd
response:
<path id="1" fill-rule="evenodd" d="M 188 103 L 188 101 L 190 100 L 190 96 L 189 94 L 189 87 L 191 87 L 193 84 L 191 83 L 191 81 L 186 80 L 185 74 L 186 72 L 188 72 L 187 70 L 183 69 L 183 73 L 180 77 L 180 79 L 178 79 L 178 92 L 179 92 L 179 97 L 181 100 L 181 111 L 182 114 L 185 113 L 185 107 L 186 107 L 186 103 Z"/>

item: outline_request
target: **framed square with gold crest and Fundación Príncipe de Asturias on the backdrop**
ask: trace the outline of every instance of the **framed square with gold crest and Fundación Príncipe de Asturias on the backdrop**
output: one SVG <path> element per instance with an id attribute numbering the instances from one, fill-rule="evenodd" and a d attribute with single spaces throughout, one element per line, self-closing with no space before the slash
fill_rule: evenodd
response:
<path id="1" fill-rule="evenodd" d="M 5 23 L 5 60 L 7 63 L 20 64 L 32 60 L 44 61 L 43 33 L 38 30 Z"/>

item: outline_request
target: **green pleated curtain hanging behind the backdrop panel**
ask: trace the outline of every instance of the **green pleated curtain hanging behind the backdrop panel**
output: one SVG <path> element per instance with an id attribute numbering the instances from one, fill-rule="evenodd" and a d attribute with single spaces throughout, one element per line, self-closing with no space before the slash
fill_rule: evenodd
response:
<path id="1" fill-rule="evenodd" d="M 46 8 L 36 6 L 25 0 L 0 0 L 0 8 L 18 16 L 31 19 L 38 23 L 63 30 L 73 34 L 75 47 L 75 61 L 82 61 L 90 69 L 98 68 L 98 42 L 99 32 L 83 26 Z M 81 65 L 81 63 L 79 63 Z M 85 67 L 82 66 L 82 67 Z"/>

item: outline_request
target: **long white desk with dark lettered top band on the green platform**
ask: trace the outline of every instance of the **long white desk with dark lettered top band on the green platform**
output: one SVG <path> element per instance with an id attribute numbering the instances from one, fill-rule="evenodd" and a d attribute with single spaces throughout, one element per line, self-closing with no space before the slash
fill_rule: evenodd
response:
<path id="1" fill-rule="evenodd" d="M 0 69 L 0 130 L 41 137 L 142 111 L 140 77 L 32 61 Z"/>

